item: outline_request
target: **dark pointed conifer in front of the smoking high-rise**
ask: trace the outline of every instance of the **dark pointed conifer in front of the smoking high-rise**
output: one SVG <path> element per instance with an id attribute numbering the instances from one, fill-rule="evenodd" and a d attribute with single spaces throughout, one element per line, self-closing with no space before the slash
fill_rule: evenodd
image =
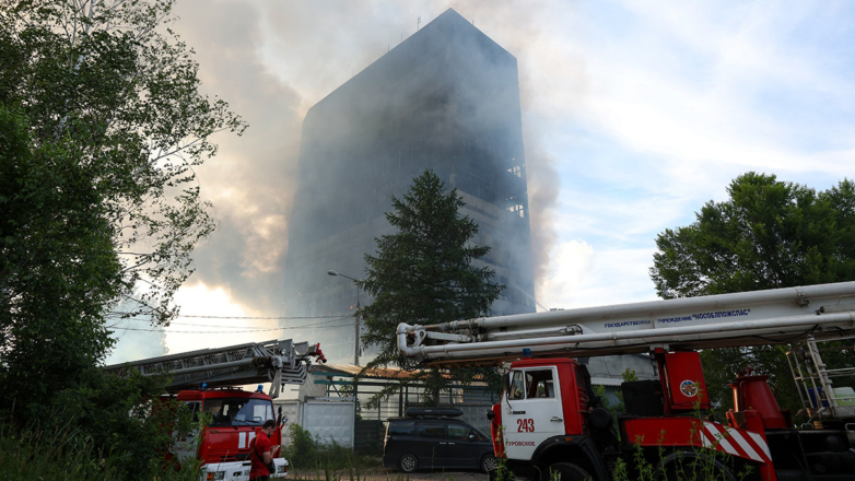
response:
<path id="1" fill-rule="evenodd" d="M 360 282 L 374 297 L 371 305 L 359 312 L 366 327 L 362 343 L 365 348 L 380 348 L 365 369 L 389 364 L 414 367 L 412 360 L 398 353 L 394 336 L 398 324 L 437 324 L 484 316 L 499 298 L 504 286 L 492 282 L 495 273 L 476 265 L 490 246 L 472 244 L 478 224 L 460 216 L 464 206 L 457 190 L 446 192 L 443 181 L 430 169 L 413 180 L 401 199 L 393 197 L 394 211 L 386 213 L 386 219 L 398 232 L 375 239 L 376 253 L 365 255 L 366 275 Z M 469 369 L 450 374 L 432 369 L 423 380 L 436 401 L 440 389 L 447 386 L 446 379 L 469 382 L 475 374 Z M 487 369 L 479 369 L 478 374 L 495 377 Z M 384 391 L 382 396 L 390 394 Z"/>

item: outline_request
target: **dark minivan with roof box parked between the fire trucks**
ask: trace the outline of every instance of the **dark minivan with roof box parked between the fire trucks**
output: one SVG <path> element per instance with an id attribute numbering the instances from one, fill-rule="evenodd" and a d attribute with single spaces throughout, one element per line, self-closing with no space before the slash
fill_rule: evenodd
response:
<path id="1" fill-rule="evenodd" d="M 406 418 L 389 419 L 383 445 L 383 466 L 417 469 L 480 469 L 496 467 L 493 444 L 471 424 L 452 419 L 462 415 L 453 408 L 410 408 Z"/>

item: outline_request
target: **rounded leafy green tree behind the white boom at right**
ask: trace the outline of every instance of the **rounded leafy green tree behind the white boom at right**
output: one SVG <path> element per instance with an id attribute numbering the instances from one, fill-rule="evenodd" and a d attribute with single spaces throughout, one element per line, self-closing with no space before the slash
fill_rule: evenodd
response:
<path id="1" fill-rule="evenodd" d="M 693 224 L 656 238 L 651 278 L 664 298 L 855 280 L 855 183 L 827 191 L 748 173 L 727 189 L 729 199 L 707 202 Z M 786 345 L 702 352 L 714 401 L 733 400 L 727 382 L 752 365 L 777 383 L 783 408 L 799 403 Z M 853 359 L 855 361 L 855 359 Z"/>

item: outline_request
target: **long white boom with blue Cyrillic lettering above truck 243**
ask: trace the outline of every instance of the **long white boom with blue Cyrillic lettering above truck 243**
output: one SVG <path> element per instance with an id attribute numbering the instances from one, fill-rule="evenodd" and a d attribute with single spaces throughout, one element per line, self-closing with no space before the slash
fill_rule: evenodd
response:
<path id="1" fill-rule="evenodd" d="M 398 326 L 401 354 L 424 364 L 499 364 L 797 342 L 855 335 L 855 282 Z"/>

